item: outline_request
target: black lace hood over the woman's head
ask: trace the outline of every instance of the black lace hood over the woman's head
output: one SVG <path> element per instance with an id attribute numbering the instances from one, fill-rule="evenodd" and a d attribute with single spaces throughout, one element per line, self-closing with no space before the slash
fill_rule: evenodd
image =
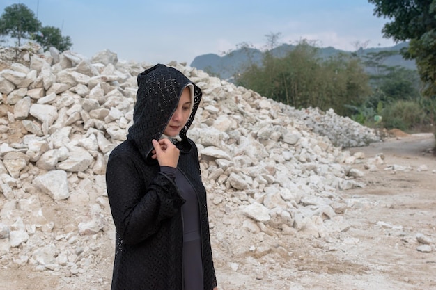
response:
<path id="1" fill-rule="evenodd" d="M 177 108 L 183 89 L 189 84 L 194 86 L 194 104 L 185 127 L 179 133 L 185 150 L 189 146 L 186 133 L 200 104 L 201 89 L 182 72 L 166 65 L 157 64 L 138 75 L 137 102 L 127 139 L 137 145 L 145 159 L 153 149 L 151 140 L 159 140 L 162 136 L 166 124 Z"/>

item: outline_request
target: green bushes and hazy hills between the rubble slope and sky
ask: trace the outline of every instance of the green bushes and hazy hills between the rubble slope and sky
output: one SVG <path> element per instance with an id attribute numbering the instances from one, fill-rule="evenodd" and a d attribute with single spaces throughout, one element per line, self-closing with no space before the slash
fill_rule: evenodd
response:
<path id="1" fill-rule="evenodd" d="M 352 52 L 302 40 L 265 51 L 242 45 L 191 65 L 295 108 L 333 109 L 368 127 L 430 131 L 435 100 L 421 95 L 414 61 L 400 54 L 405 48 L 407 42 Z"/>

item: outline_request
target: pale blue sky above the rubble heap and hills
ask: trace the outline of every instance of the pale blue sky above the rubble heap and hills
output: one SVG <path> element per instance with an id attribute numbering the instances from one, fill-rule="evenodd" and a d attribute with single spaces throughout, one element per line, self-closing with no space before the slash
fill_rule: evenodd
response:
<path id="1" fill-rule="evenodd" d="M 109 49 L 125 61 L 190 64 L 243 42 L 261 49 L 271 33 L 281 33 L 280 43 L 308 39 L 347 51 L 356 43 L 395 45 L 382 37 L 388 20 L 375 17 L 366 0 L 1 0 L 0 12 L 14 3 L 61 29 L 86 58 Z"/>

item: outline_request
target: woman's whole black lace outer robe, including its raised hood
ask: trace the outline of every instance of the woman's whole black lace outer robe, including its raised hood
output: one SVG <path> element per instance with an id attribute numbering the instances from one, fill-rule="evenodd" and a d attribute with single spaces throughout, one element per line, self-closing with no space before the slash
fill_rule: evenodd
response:
<path id="1" fill-rule="evenodd" d="M 155 65 L 138 76 L 134 124 L 127 140 L 112 150 L 106 172 L 107 193 L 116 226 L 111 290 L 182 290 L 182 204 L 174 181 L 150 159 L 151 140 L 162 135 L 182 90 L 192 83 L 181 72 Z M 198 152 L 186 132 L 194 120 L 201 90 L 194 83 L 192 113 L 180 131 L 178 169 L 195 188 L 199 201 L 204 289 L 217 281 L 212 261 L 206 192 Z"/>

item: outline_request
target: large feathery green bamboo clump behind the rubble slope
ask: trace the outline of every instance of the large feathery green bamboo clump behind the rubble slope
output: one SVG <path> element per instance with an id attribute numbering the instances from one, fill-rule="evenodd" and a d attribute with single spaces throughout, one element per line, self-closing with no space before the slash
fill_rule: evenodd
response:
<path id="1" fill-rule="evenodd" d="M 357 104 L 371 92 L 368 76 L 358 58 L 341 54 L 324 61 L 318 52 L 306 40 L 283 58 L 266 51 L 262 65 L 251 63 L 236 83 L 295 108 L 333 108 L 345 115 L 344 104 Z"/>

